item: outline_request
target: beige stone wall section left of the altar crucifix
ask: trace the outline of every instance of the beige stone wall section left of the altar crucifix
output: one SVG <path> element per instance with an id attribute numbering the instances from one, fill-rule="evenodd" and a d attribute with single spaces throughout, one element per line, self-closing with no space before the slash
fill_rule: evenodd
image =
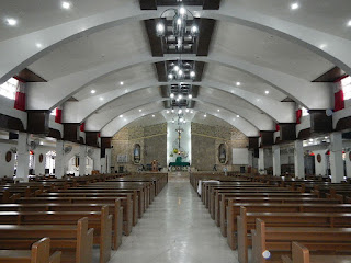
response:
<path id="1" fill-rule="evenodd" d="M 140 162 L 134 163 L 134 147 L 140 145 Z M 112 139 L 112 167 L 117 171 L 135 172 L 140 164 L 158 160 L 160 165 L 167 163 L 167 124 L 151 126 L 132 126 L 122 128 Z M 117 162 L 117 156 L 127 156 L 126 162 Z"/>

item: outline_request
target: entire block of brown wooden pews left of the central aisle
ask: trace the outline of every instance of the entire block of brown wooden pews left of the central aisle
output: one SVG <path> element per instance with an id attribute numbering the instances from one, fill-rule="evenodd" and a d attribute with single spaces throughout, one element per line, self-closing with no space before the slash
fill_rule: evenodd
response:
<path id="1" fill-rule="evenodd" d="M 38 179 L 0 185 L 0 262 L 106 263 L 165 185 L 167 173 Z"/>

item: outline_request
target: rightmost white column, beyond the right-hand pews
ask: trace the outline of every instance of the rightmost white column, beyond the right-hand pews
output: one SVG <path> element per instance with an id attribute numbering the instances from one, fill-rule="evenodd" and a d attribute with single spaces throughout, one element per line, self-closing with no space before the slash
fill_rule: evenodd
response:
<path id="1" fill-rule="evenodd" d="M 343 160 L 342 160 L 342 134 L 330 134 L 330 170 L 331 182 L 340 183 L 343 181 Z"/>

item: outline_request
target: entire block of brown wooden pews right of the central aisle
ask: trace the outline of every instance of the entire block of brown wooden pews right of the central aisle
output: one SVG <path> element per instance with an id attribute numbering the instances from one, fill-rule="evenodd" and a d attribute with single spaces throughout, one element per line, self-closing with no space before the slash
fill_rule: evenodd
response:
<path id="1" fill-rule="evenodd" d="M 350 263 L 351 185 L 265 175 L 191 174 L 240 263 Z"/>

